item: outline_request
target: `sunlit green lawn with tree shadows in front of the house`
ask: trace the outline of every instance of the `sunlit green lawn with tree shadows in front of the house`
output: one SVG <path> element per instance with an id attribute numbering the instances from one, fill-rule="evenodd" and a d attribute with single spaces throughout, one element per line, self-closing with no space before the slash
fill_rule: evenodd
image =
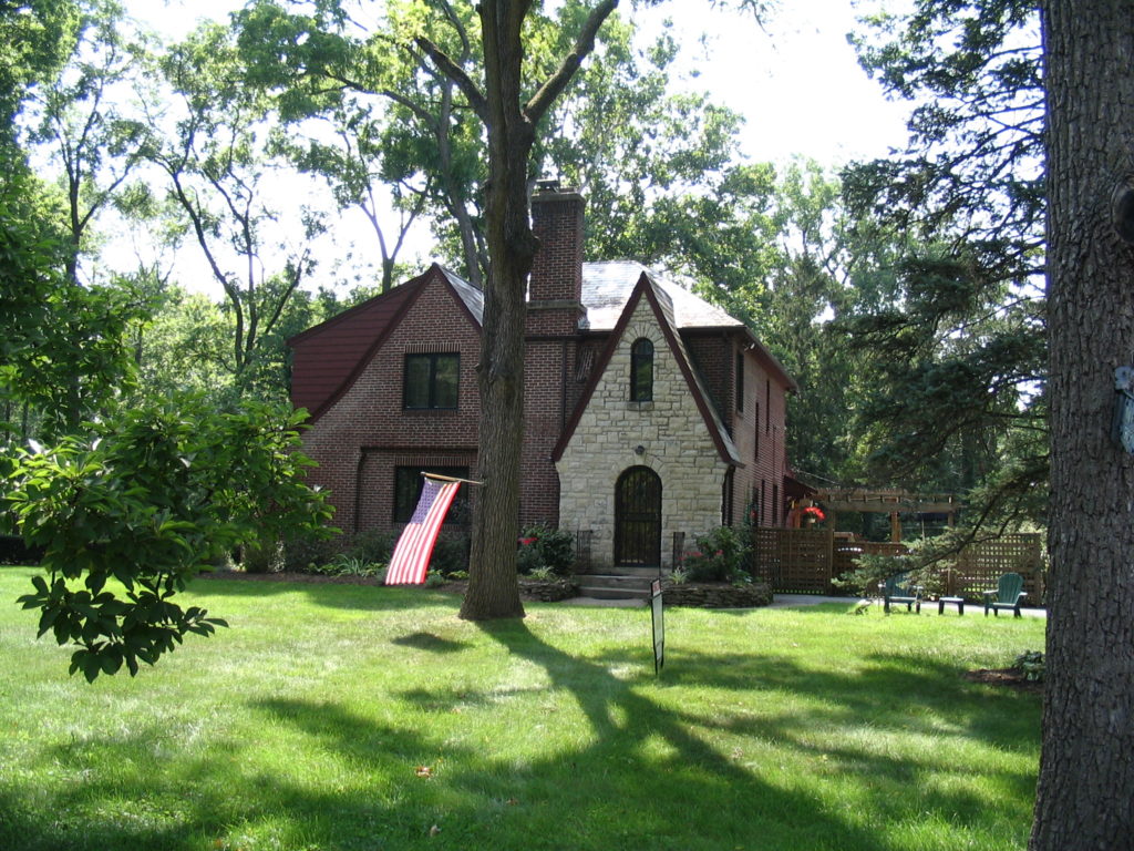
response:
<path id="1" fill-rule="evenodd" d="M 69 677 L 0 568 L 0 848 L 1023 849 L 1043 623 L 849 606 L 528 606 L 197 580 L 231 629 Z"/>

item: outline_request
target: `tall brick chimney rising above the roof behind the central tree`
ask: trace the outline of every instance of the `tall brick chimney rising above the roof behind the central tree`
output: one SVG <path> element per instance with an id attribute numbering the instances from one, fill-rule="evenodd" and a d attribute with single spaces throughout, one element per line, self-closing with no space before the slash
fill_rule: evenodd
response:
<path id="1" fill-rule="evenodd" d="M 540 250 L 527 285 L 527 332 L 569 336 L 583 314 L 583 210 L 578 192 L 540 180 L 532 195 L 532 230 Z"/>

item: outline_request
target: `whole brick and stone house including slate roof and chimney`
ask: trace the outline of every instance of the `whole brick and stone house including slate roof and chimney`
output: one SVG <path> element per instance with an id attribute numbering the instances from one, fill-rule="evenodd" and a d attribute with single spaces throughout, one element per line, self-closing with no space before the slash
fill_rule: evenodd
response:
<path id="1" fill-rule="evenodd" d="M 586 533 L 598 570 L 671 566 L 675 534 L 748 511 L 781 525 L 793 380 L 696 295 L 638 263 L 584 263 L 584 204 L 532 199 L 517 529 Z M 483 294 L 434 264 L 288 342 L 311 480 L 345 532 L 399 530 L 421 471 L 477 475 L 482 312 Z"/>

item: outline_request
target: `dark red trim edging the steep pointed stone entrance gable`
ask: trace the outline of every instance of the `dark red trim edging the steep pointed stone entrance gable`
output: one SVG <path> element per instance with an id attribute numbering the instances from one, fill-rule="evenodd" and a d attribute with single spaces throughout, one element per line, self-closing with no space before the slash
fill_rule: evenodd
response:
<path id="1" fill-rule="evenodd" d="M 599 362 L 591 372 L 591 379 L 587 381 L 586 389 L 583 390 L 583 395 L 579 398 L 578 404 L 575 406 L 575 411 L 572 413 L 570 420 L 567 422 L 567 427 L 564 429 L 562 435 L 559 437 L 559 441 L 556 444 L 555 452 L 551 455 L 552 461 L 559 461 L 562 457 L 564 452 L 566 452 L 567 445 L 570 443 L 570 439 L 575 433 L 575 429 L 578 428 L 578 421 L 583 416 L 583 412 L 591 403 L 594 389 L 602 379 L 602 376 L 610 363 L 611 356 L 613 356 L 615 351 L 618 348 L 618 345 L 626 332 L 626 326 L 629 325 L 631 317 L 634 315 L 634 311 L 637 309 L 643 298 L 650 305 L 658 320 L 658 326 L 661 328 L 666 343 L 669 345 L 669 349 L 674 354 L 682 374 L 685 377 L 685 384 L 688 387 L 689 395 L 696 403 L 697 411 L 700 411 L 701 418 L 704 420 L 705 428 L 709 430 L 709 436 L 712 438 L 713 445 L 717 447 L 717 453 L 720 455 L 721 461 L 734 466 L 744 466 L 744 463 L 741 461 L 741 454 L 737 452 L 736 445 L 733 443 L 733 438 L 725 428 L 725 423 L 721 422 L 720 414 L 717 412 L 716 406 L 710 401 L 709 393 L 705 389 L 700 374 L 695 369 L 693 369 L 693 363 L 689 359 L 689 353 L 685 348 L 685 343 L 682 340 L 682 335 L 678 334 L 677 311 L 674 298 L 660 283 L 654 280 L 653 277 L 644 270 L 638 275 L 637 285 L 631 293 L 629 298 L 627 298 L 623 304 L 621 313 L 618 317 L 618 321 L 611 329 L 610 337 L 607 339 L 607 345 L 602 349 L 602 355 L 599 357 Z"/>

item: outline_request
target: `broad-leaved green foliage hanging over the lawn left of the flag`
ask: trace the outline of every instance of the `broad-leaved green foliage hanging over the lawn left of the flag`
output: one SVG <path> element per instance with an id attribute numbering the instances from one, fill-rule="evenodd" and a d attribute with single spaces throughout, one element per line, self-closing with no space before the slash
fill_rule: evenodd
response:
<path id="1" fill-rule="evenodd" d="M 40 635 L 77 646 L 73 674 L 133 675 L 225 625 L 172 598 L 234 547 L 325 533 L 330 511 L 302 481 L 302 416 L 175 396 L 117 412 L 93 440 L 17 453 L 5 507 L 46 572 L 19 601 L 40 610 Z"/>

